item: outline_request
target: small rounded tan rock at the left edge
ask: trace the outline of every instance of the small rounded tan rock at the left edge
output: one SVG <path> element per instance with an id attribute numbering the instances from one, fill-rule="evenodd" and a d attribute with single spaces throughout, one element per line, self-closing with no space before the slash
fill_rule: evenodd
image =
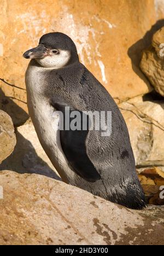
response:
<path id="1" fill-rule="evenodd" d="M 13 122 L 7 113 L 0 110 L 0 164 L 13 152 L 15 144 Z"/>

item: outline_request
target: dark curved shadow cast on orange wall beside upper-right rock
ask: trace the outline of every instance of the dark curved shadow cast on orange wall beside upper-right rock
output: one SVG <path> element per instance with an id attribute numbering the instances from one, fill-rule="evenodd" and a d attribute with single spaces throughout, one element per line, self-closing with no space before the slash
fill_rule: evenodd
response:
<path id="1" fill-rule="evenodd" d="M 163 26 L 164 19 L 157 21 L 156 24 L 153 25 L 147 33 L 145 33 L 144 37 L 133 44 L 127 51 L 132 62 L 133 71 L 148 85 L 148 88 L 150 88 L 149 81 L 142 71 L 140 71 L 139 63 L 142 58 L 142 51 L 148 48 L 151 44 L 153 34 Z"/>

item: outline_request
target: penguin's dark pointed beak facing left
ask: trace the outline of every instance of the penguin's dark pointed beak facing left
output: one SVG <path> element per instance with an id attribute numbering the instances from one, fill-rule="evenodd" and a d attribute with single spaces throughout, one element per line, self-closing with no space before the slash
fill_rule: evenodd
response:
<path id="1" fill-rule="evenodd" d="M 43 59 L 45 56 L 48 55 L 46 50 L 47 49 L 44 47 L 43 44 L 39 44 L 37 47 L 25 51 L 23 57 L 25 59 Z"/>

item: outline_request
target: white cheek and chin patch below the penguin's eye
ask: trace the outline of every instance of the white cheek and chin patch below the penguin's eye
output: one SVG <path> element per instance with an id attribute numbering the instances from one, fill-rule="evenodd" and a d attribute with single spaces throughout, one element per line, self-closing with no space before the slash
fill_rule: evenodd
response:
<path id="1" fill-rule="evenodd" d="M 37 62 L 46 68 L 62 68 L 66 66 L 68 61 L 70 60 L 71 54 L 67 50 L 60 50 L 60 54 L 54 54 L 51 56 L 46 56 L 44 59 L 36 59 Z"/>

